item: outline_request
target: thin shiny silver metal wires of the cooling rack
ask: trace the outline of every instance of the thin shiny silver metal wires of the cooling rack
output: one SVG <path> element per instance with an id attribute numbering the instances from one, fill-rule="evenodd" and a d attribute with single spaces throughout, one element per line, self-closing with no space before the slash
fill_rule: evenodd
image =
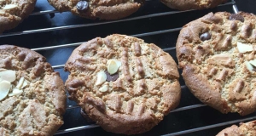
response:
<path id="1" fill-rule="evenodd" d="M 238 11 L 238 9 L 236 8 L 235 1 L 230 1 L 229 3 L 225 3 L 221 6 L 227 6 L 227 5 L 232 6 L 235 13 Z M 186 11 L 186 12 L 191 12 L 191 11 Z M 55 10 L 46 10 L 46 11 L 35 12 L 32 15 L 53 14 L 53 13 L 58 13 L 58 12 L 55 11 Z M 56 27 L 36 29 L 36 30 L 27 30 L 27 31 L 15 31 L 15 32 L 4 33 L 3 35 L 0 35 L 0 37 L 12 37 L 12 36 L 26 35 L 26 34 L 32 34 L 32 33 L 40 33 L 40 32 L 46 32 L 46 31 L 68 30 L 68 29 L 79 28 L 79 27 L 102 26 L 102 25 L 112 24 L 112 23 L 121 23 L 121 22 L 131 21 L 131 20 L 141 20 L 141 19 L 146 19 L 146 18 L 154 18 L 154 17 L 164 16 L 164 15 L 181 14 L 181 13 L 183 13 L 183 12 L 171 11 L 171 12 L 158 13 L 158 14 L 145 14 L 145 15 L 142 15 L 142 16 L 136 16 L 136 17 L 131 17 L 131 18 L 128 17 L 128 18 L 122 19 L 122 20 L 101 21 L 101 22 L 97 22 L 97 23 L 73 25 L 73 26 L 56 26 Z M 174 28 L 174 29 L 172 28 L 172 29 L 168 29 L 168 30 L 149 31 L 149 32 L 138 33 L 138 34 L 135 34 L 135 35 L 132 35 L 132 36 L 133 37 L 154 36 L 154 35 L 159 35 L 159 34 L 164 34 L 164 33 L 177 32 L 177 31 L 180 31 L 180 29 L 181 28 L 179 27 L 179 28 Z M 44 48 L 32 48 L 32 50 L 39 52 L 39 51 L 44 51 L 44 50 L 52 50 L 52 49 L 56 49 L 56 48 L 71 48 L 71 47 L 77 47 L 77 46 L 79 46 L 79 44 L 81 44 L 81 42 L 73 42 L 73 43 L 69 43 L 69 44 L 61 44 L 61 45 L 55 45 L 55 46 L 50 46 L 50 47 L 44 47 Z M 175 49 L 176 49 L 175 47 L 163 48 L 163 50 L 168 52 L 168 53 L 175 51 Z M 172 54 L 172 56 L 173 56 L 173 54 Z M 53 65 L 53 68 L 55 70 L 59 70 L 59 69 L 62 69 L 63 66 L 64 65 Z M 188 91 L 186 89 L 186 86 L 184 86 L 184 85 L 182 86 L 182 91 Z M 176 110 L 171 111 L 171 113 L 179 112 L 179 111 L 189 111 L 189 110 L 194 110 L 194 109 L 200 110 L 200 108 L 202 108 L 202 107 L 206 107 L 206 105 L 202 105 L 202 104 L 188 105 L 188 106 L 178 107 Z M 74 108 L 79 108 L 79 106 L 78 105 L 68 105 L 67 106 L 67 110 L 71 110 L 71 109 L 74 109 Z M 229 122 L 221 122 L 221 123 L 217 123 L 217 124 L 213 124 L 213 125 L 209 125 L 209 126 L 193 127 L 191 129 L 179 131 L 179 132 L 176 132 L 176 133 L 166 133 L 166 135 L 178 135 L 178 134 L 193 133 L 193 132 L 203 131 L 203 130 L 213 128 L 213 127 L 221 127 L 221 126 L 225 126 L 225 125 L 234 124 L 234 123 L 237 123 L 237 122 L 247 122 L 247 121 L 254 120 L 254 119 L 256 119 L 256 116 L 245 117 L 243 119 L 232 120 L 232 121 L 229 121 Z M 90 128 L 93 128 L 93 127 L 99 127 L 99 126 L 96 125 L 96 124 L 91 124 L 91 125 L 86 125 L 86 126 L 81 126 L 81 127 L 70 127 L 70 128 L 67 128 L 67 129 L 59 130 L 55 134 L 70 133 L 70 132 L 73 132 L 73 131 L 79 131 L 79 130 L 83 130 L 83 129 L 90 129 Z"/>

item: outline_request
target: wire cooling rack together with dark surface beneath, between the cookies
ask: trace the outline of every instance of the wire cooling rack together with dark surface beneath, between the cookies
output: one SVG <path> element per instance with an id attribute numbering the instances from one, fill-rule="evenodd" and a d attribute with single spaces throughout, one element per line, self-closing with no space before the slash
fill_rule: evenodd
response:
<path id="1" fill-rule="evenodd" d="M 83 19 L 69 12 L 60 14 L 46 0 L 38 0 L 28 19 L 15 29 L 0 35 L 0 44 L 32 48 L 44 55 L 55 71 L 60 72 L 65 82 L 68 73 L 63 71 L 63 66 L 73 49 L 81 42 L 95 37 L 107 37 L 113 33 L 125 34 L 142 38 L 148 43 L 153 42 L 171 54 L 177 62 L 175 44 L 181 27 L 209 12 L 218 11 L 236 13 L 236 2 L 230 0 L 217 8 L 181 12 L 166 7 L 159 0 L 147 0 L 137 13 L 122 20 L 106 21 Z M 231 124 L 256 119 L 255 113 L 248 116 L 239 116 L 237 113 L 222 114 L 201 104 L 189 92 L 182 77 L 180 84 L 180 105 L 156 127 L 140 135 L 216 135 Z M 94 122 L 86 122 L 80 115 L 79 106 L 69 99 L 64 122 L 55 135 L 119 135 L 104 131 Z"/>

